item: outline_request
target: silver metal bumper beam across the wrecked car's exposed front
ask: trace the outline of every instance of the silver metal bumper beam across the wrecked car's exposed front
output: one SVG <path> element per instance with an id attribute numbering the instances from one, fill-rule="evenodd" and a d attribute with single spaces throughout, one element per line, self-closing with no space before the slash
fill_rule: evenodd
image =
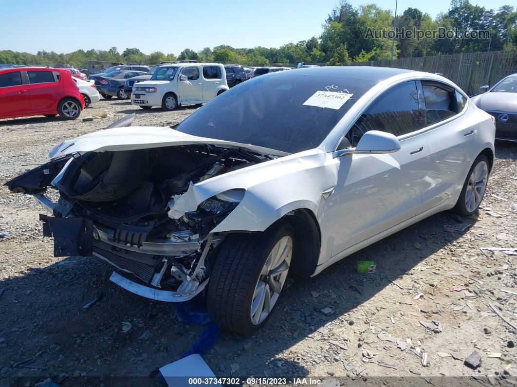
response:
<path id="1" fill-rule="evenodd" d="M 201 239 L 186 241 L 186 242 L 173 242 L 170 239 L 160 239 L 149 242 L 142 242 L 142 247 L 131 246 L 129 244 L 122 244 L 113 241 L 114 231 L 107 227 L 102 227 L 98 224 L 94 224 L 94 238 L 101 240 L 102 242 L 111 244 L 121 249 L 136 251 L 145 254 L 154 255 L 172 255 L 176 257 L 184 257 L 192 254 L 200 249 Z M 222 237 L 215 236 L 212 242 L 220 240 Z"/>

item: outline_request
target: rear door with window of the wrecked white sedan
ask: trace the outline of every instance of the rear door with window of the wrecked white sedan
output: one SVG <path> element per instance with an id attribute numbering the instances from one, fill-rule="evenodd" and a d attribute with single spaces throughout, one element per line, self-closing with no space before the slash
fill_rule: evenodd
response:
<path id="1" fill-rule="evenodd" d="M 420 83 L 420 82 L 419 82 Z M 422 194 L 426 208 L 461 191 L 472 165 L 478 123 L 464 114 L 467 98 L 452 86 L 421 81 L 425 98 L 424 127 L 431 152 L 428 178 L 433 184 Z"/>

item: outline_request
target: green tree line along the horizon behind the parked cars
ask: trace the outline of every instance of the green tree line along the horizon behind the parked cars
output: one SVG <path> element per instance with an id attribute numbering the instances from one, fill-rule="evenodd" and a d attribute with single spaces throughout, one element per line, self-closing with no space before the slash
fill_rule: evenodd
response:
<path id="1" fill-rule="evenodd" d="M 288 63 L 326 63 L 337 65 L 349 61 L 389 59 L 392 41 L 369 38 L 368 30 L 459 30 L 460 34 L 472 30 L 488 30 L 490 39 L 395 39 L 393 58 L 455 54 L 473 51 L 517 50 L 517 11 L 510 5 L 497 10 L 470 4 L 469 0 L 452 0 L 447 12 L 433 19 L 429 13 L 409 7 L 395 18 L 391 10 L 375 4 L 354 7 L 342 0 L 329 13 L 319 37 L 297 43 L 287 43 L 280 48 L 233 48 L 229 45 L 206 47 L 200 51 L 185 49 L 175 55 L 156 51 L 144 54 L 136 48 L 119 53 L 116 47 L 105 50 L 77 50 L 68 54 L 39 51 L 37 54 L 0 51 L 0 64 L 55 65 L 70 64 L 83 67 L 88 60 L 154 65 L 167 60 L 196 59 L 204 62 L 235 63 L 268 66 Z"/>

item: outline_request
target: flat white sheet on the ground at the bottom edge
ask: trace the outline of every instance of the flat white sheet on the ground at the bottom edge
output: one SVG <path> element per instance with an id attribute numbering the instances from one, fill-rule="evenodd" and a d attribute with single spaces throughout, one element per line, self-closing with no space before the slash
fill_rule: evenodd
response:
<path id="1" fill-rule="evenodd" d="M 201 355 L 197 353 L 164 365 L 160 368 L 160 373 L 169 387 L 192 387 L 192 383 L 189 384 L 189 378 L 216 377 Z M 221 387 L 218 383 L 210 383 L 210 385 Z"/>

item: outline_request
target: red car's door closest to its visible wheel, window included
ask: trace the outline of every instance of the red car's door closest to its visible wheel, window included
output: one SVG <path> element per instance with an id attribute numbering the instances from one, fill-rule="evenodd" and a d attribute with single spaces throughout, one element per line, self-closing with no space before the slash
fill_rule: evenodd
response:
<path id="1" fill-rule="evenodd" d="M 52 70 L 28 70 L 27 85 L 33 112 L 47 112 L 57 109 L 57 98 L 62 86 Z"/>

